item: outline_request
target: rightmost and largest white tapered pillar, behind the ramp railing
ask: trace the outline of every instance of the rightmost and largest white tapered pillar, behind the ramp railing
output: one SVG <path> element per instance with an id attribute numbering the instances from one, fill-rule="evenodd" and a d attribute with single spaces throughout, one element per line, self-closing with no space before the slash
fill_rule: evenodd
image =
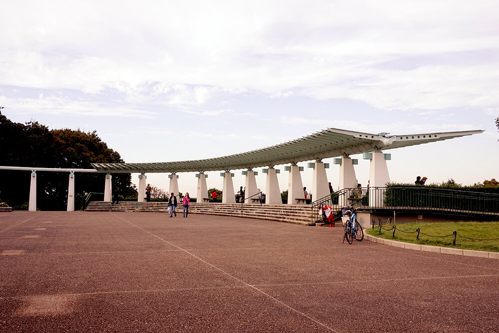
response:
<path id="1" fill-rule="evenodd" d="M 391 154 L 383 154 L 382 152 L 364 153 L 364 160 L 371 160 L 369 172 L 369 205 L 376 206 L 382 205 L 383 200 L 379 197 L 383 195 L 382 189 L 376 187 L 385 187 L 387 182 L 390 182 L 390 175 L 388 174 L 387 160 L 391 160 Z M 378 198 L 377 198 L 378 197 Z"/>

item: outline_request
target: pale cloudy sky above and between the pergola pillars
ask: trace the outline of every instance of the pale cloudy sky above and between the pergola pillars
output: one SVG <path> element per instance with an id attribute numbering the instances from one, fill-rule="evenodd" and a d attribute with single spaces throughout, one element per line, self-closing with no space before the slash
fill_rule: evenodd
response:
<path id="1" fill-rule="evenodd" d="M 127 163 L 233 155 L 326 128 L 485 130 L 385 151 L 392 181 L 473 184 L 499 179 L 498 13 L 497 0 L 2 1 L 0 105 L 14 122 L 97 131 Z M 366 185 L 369 161 L 351 158 Z M 339 166 L 323 162 L 337 188 Z M 288 172 L 276 168 L 282 191 Z M 222 189 L 220 171 L 207 174 Z M 168 190 L 166 173 L 147 176 Z M 179 176 L 195 196 L 194 173 Z"/>

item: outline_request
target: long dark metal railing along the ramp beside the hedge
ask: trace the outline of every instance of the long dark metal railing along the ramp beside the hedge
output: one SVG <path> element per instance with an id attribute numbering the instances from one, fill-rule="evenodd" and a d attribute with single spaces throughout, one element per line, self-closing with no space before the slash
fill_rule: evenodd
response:
<path id="1" fill-rule="evenodd" d="M 499 217 L 499 194 L 432 187 L 344 188 L 312 202 L 312 222 L 322 219 L 319 207 L 333 211 L 352 205 L 365 211 L 439 212 Z"/>

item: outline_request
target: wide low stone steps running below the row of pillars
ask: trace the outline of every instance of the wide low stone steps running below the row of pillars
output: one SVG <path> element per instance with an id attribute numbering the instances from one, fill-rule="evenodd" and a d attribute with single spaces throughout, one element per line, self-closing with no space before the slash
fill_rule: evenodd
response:
<path id="1" fill-rule="evenodd" d="M 167 202 L 134 202 L 121 201 L 118 204 L 111 202 L 91 201 L 86 211 L 168 211 Z M 182 214 L 182 205 L 177 206 L 177 214 Z M 266 220 L 315 225 L 312 223 L 312 209 L 309 205 L 270 205 L 245 203 L 201 203 L 192 202 L 189 206 L 190 214 L 212 214 L 234 217 L 250 217 Z"/>

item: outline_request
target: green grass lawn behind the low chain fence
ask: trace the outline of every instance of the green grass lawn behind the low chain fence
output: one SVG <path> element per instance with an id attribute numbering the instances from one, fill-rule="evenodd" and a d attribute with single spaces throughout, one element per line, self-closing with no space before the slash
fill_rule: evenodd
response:
<path id="1" fill-rule="evenodd" d="M 389 224 L 383 225 L 384 229 L 390 229 Z M 420 229 L 419 240 L 416 239 L 417 233 L 404 233 L 402 231 L 416 231 Z M 454 240 L 453 231 L 457 231 L 456 245 L 452 245 Z M 386 231 L 379 227 L 374 229 L 369 228 L 366 232 L 370 235 L 397 240 L 407 243 L 415 243 L 421 245 L 434 245 L 454 247 L 458 249 L 480 250 L 499 252 L 499 239 L 496 240 L 473 240 L 462 238 L 459 236 L 470 238 L 499 238 L 499 222 L 434 222 L 434 223 L 404 223 L 397 225 L 395 238 L 393 238 L 393 230 Z M 432 236 L 445 236 L 445 238 L 436 238 L 423 235 L 423 233 Z"/>

